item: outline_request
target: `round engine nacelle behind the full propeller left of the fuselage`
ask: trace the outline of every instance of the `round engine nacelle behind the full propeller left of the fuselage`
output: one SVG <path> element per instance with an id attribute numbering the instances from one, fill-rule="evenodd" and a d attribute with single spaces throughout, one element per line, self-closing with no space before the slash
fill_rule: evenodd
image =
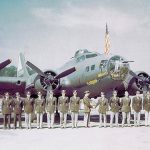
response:
<path id="1" fill-rule="evenodd" d="M 54 79 L 54 77 L 57 75 L 55 71 L 47 70 L 44 72 L 45 77 L 37 75 L 37 77 L 34 80 L 34 86 L 38 90 L 43 89 L 44 91 L 47 91 L 48 88 L 51 86 L 51 90 L 55 90 L 60 85 L 59 79 Z"/>

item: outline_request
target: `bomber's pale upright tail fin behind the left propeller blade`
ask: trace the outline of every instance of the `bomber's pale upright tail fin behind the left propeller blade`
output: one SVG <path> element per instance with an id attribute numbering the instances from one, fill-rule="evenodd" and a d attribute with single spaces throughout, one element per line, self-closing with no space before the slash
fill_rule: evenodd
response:
<path id="1" fill-rule="evenodd" d="M 30 75 L 29 75 L 29 72 L 27 70 L 25 57 L 24 57 L 23 53 L 20 53 L 19 63 L 18 63 L 18 68 L 17 68 L 17 77 L 28 78 L 29 76 Z"/>

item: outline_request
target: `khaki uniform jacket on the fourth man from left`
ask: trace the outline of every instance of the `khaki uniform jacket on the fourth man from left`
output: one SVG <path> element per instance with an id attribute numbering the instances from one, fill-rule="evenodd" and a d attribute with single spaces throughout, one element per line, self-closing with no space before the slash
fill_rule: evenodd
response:
<path id="1" fill-rule="evenodd" d="M 44 99 L 35 99 L 35 111 L 37 113 L 44 113 L 45 111 L 45 100 Z"/>

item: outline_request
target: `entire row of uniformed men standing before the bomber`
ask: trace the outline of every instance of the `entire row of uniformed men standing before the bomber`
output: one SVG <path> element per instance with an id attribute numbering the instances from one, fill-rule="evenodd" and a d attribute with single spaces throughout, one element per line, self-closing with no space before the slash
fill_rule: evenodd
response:
<path id="1" fill-rule="evenodd" d="M 77 91 L 73 91 L 73 96 L 69 98 L 66 96 L 66 91 L 62 90 L 61 96 L 54 97 L 53 91 L 50 91 L 49 96 L 45 99 L 42 98 L 41 92 L 38 92 L 38 98 L 32 99 L 30 92 L 27 92 L 27 96 L 24 100 L 21 99 L 20 94 L 17 92 L 16 97 L 12 100 L 9 98 L 9 93 L 5 93 L 2 100 L 2 114 L 4 128 L 10 128 L 11 113 L 14 113 L 14 128 L 17 127 L 17 120 L 19 122 L 19 128 L 22 128 L 21 115 L 24 109 L 25 113 L 25 125 L 26 128 L 31 128 L 31 118 L 33 112 L 37 118 L 37 128 L 42 128 L 43 114 L 47 113 L 47 127 L 54 128 L 55 112 L 58 106 L 60 113 L 60 127 L 66 128 L 67 114 L 71 112 L 72 128 L 77 128 L 78 114 L 81 102 L 84 104 L 84 124 L 85 127 L 89 127 L 91 108 L 98 108 L 99 112 L 99 127 L 106 127 L 106 116 L 110 108 L 110 127 L 113 127 L 113 120 L 115 118 L 115 126 L 118 126 L 119 111 L 122 112 L 122 127 L 125 125 L 127 119 L 127 125 L 130 126 L 131 107 L 134 110 L 134 126 L 140 125 L 140 112 L 145 110 L 145 126 L 150 126 L 150 92 L 144 96 L 143 101 L 140 97 L 140 92 L 137 91 L 135 97 L 132 99 L 127 91 L 123 98 L 117 97 L 117 91 L 113 91 L 112 97 L 105 98 L 104 92 L 101 92 L 101 97 L 98 98 L 98 102 L 95 105 L 91 105 L 91 99 L 89 98 L 90 92 L 85 91 L 83 99 L 77 96 Z"/>

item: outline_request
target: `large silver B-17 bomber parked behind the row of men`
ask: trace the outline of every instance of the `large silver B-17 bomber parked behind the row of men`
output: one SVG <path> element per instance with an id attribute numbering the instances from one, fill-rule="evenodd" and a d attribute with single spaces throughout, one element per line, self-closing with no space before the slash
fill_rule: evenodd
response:
<path id="1" fill-rule="evenodd" d="M 118 96 L 123 96 L 125 90 L 130 95 L 134 95 L 137 90 L 141 93 L 147 91 L 150 88 L 149 75 L 144 71 L 133 72 L 129 63 L 119 55 L 80 49 L 59 69 L 41 71 L 31 62 L 26 62 L 21 53 L 17 77 L 1 77 L 0 91 L 11 94 L 20 92 L 22 96 L 26 91 L 31 91 L 32 96 L 35 96 L 37 91 L 47 95 L 49 90 L 53 90 L 55 96 L 59 96 L 61 90 L 65 89 L 68 96 L 77 90 L 80 97 L 86 90 L 90 91 L 91 97 L 99 96 L 101 91 L 107 97 L 113 90 L 118 91 Z M 30 74 L 27 67 L 35 73 Z"/>

